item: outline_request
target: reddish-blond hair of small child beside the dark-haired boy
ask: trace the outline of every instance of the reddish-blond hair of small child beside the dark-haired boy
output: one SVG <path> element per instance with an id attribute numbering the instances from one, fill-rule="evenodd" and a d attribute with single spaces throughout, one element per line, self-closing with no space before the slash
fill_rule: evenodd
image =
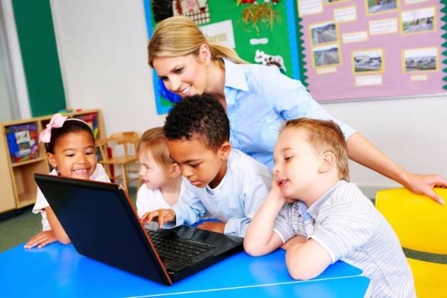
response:
<path id="1" fill-rule="evenodd" d="M 169 171 L 170 166 L 174 164 L 174 160 L 170 158 L 169 149 L 167 148 L 167 138 L 163 133 L 162 127 L 150 128 L 143 136 L 141 136 L 140 141 L 137 145 L 136 154 L 144 154 L 150 152 L 159 165 L 163 169 Z"/>

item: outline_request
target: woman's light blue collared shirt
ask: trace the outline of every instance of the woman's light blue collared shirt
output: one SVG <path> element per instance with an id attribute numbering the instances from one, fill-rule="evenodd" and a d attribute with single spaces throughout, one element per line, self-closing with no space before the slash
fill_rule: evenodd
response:
<path id="1" fill-rule="evenodd" d="M 307 117 L 336 121 L 346 140 L 354 129 L 326 112 L 296 79 L 277 67 L 225 62 L 225 94 L 233 148 L 273 168 L 273 148 L 285 120 Z M 329 88 L 329 87 L 328 87 Z"/>

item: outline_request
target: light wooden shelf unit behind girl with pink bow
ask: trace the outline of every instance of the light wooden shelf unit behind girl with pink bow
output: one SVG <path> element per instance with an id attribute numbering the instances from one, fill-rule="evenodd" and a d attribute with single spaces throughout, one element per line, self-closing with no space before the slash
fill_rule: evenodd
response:
<path id="1" fill-rule="evenodd" d="M 100 109 L 77 111 L 64 114 L 64 116 L 82 118 L 82 116 L 85 117 L 88 114 L 96 114 L 97 131 L 95 137 L 105 138 L 104 121 Z M 51 116 L 0 122 L 0 189 L 2 192 L 0 195 L 0 213 L 34 204 L 37 194 L 34 174 L 48 174 L 50 171 L 50 165 L 48 164 L 43 146 L 38 147 L 38 156 L 36 158 L 13 162 L 9 152 L 6 131 L 11 126 L 36 124 L 38 133 L 40 133 L 45 128 L 46 123 L 50 121 Z"/>

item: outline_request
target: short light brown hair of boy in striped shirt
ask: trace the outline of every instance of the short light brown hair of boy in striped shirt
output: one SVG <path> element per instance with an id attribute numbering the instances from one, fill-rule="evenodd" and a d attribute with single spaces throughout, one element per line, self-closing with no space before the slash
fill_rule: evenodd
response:
<path id="1" fill-rule="evenodd" d="M 282 131 L 287 128 L 304 129 L 316 154 L 320 155 L 328 151 L 333 153 L 337 160 L 338 179 L 349 181 L 348 147 L 337 123 L 332 120 L 297 118 L 287 121 Z"/>

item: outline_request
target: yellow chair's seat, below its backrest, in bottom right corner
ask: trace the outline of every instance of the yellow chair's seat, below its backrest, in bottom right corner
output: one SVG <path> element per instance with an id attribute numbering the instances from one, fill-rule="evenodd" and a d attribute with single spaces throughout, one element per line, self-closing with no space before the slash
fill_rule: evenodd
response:
<path id="1" fill-rule="evenodd" d="M 407 258 L 418 298 L 447 298 L 447 264 Z"/>

